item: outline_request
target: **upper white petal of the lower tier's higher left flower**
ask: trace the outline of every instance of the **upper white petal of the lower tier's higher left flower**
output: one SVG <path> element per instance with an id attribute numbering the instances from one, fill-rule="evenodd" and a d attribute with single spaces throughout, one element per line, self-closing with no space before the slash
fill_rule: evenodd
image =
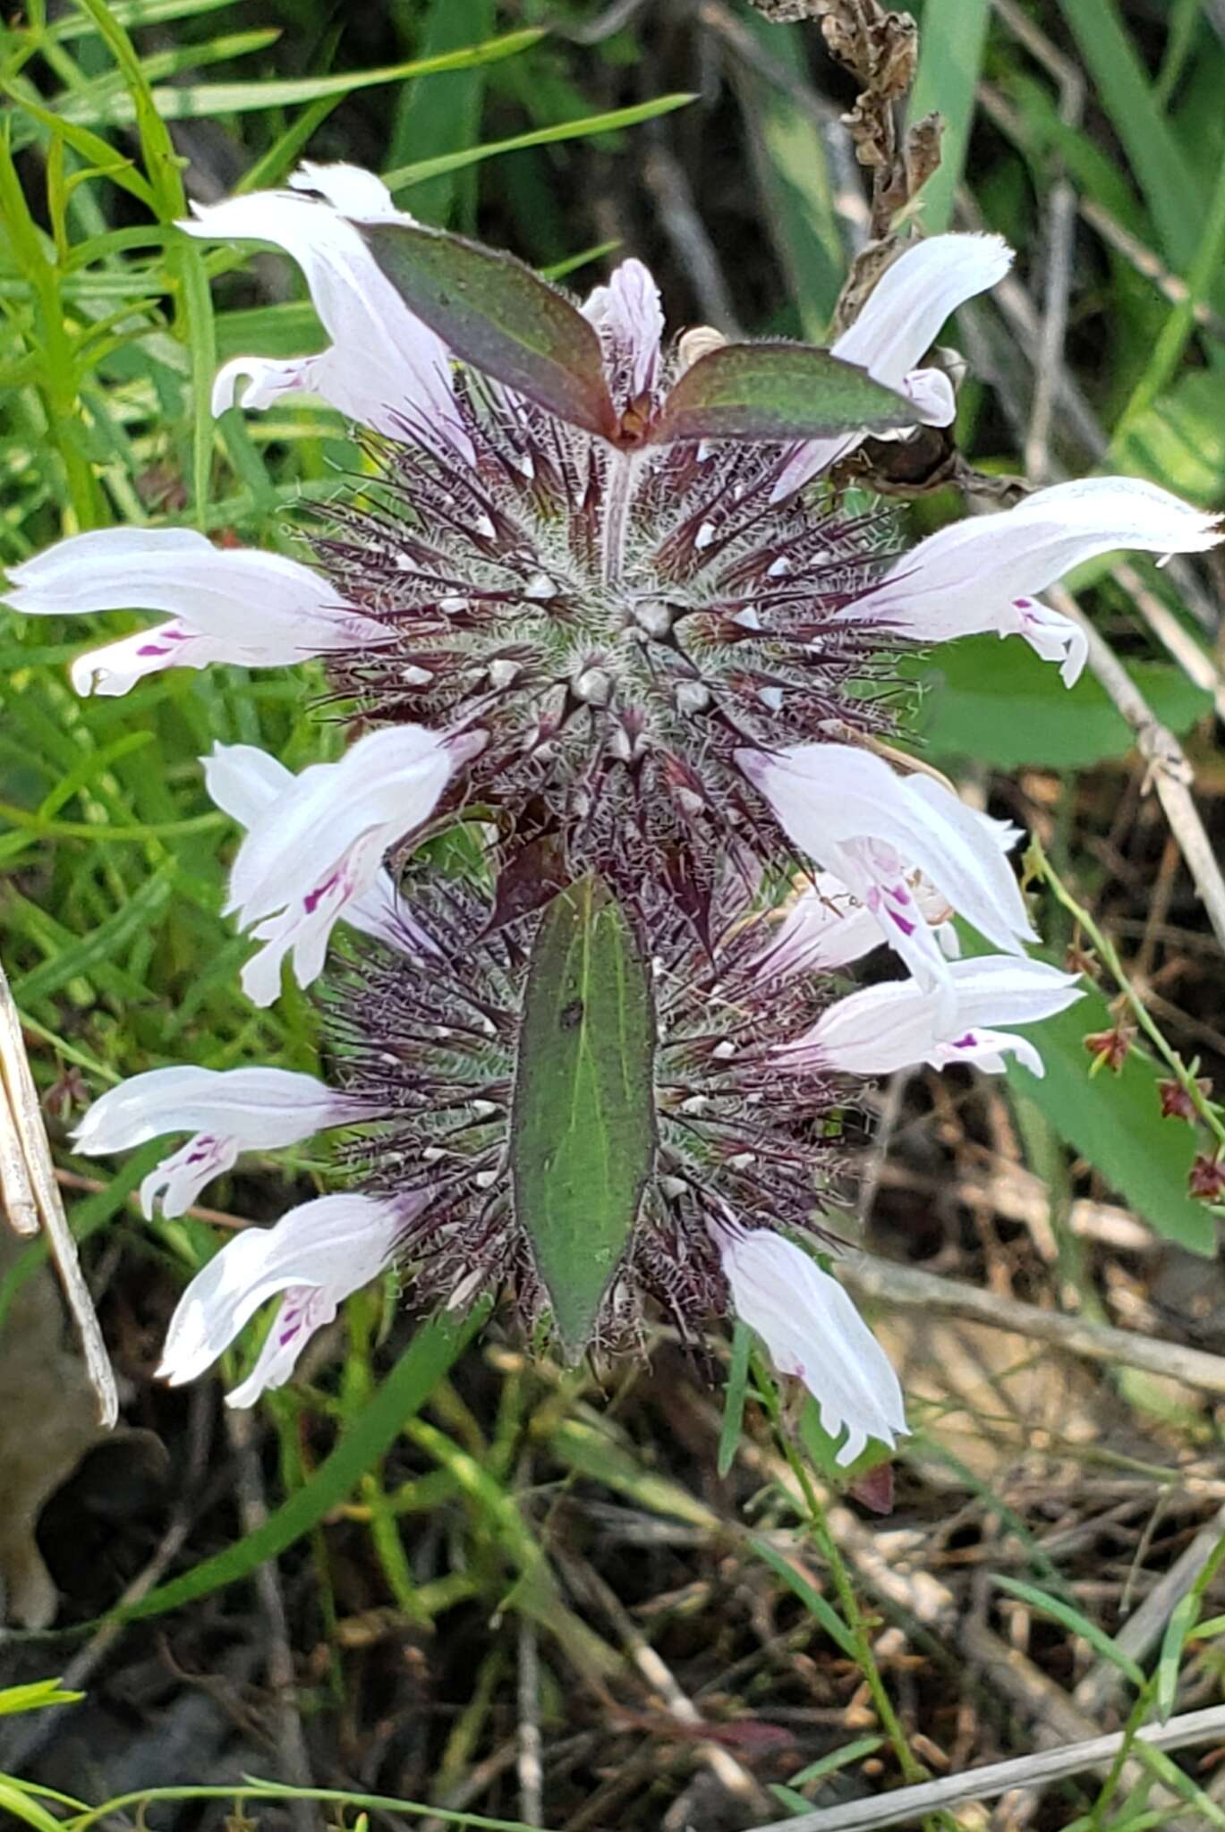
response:
<path id="1" fill-rule="evenodd" d="M 244 1147 L 293 1145 L 336 1125 L 350 1103 L 314 1075 L 290 1068 L 150 1068 L 94 1101 L 75 1129 L 77 1150 L 95 1158 L 130 1150 L 163 1132 L 216 1132 Z"/>

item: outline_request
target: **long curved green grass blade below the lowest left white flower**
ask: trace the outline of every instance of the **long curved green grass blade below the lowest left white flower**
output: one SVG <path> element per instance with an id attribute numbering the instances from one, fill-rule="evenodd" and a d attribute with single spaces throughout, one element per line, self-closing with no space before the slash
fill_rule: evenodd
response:
<path id="1" fill-rule="evenodd" d="M 224 1552 L 194 1565 L 182 1577 L 150 1590 L 139 1603 L 119 1607 L 106 1621 L 139 1621 L 145 1616 L 163 1616 L 183 1603 L 211 1596 L 226 1585 L 249 1577 L 251 1572 L 317 1526 L 337 1502 L 361 1482 L 369 1469 L 400 1436 L 400 1431 L 420 1412 L 438 1381 L 446 1376 L 464 1345 L 477 1334 L 488 1306 L 479 1304 L 462 1323 L 438 1317 L 424 1323 L 370 1403 L 347 1427 L 336 1449 L 326 1456 L 308 1482 L 271 1513 L 262 1526 Z"/>

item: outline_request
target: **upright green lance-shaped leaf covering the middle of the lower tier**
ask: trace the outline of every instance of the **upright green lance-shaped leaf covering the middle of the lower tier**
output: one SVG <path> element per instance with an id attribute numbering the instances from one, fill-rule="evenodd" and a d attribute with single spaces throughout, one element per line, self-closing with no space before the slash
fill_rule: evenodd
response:
<path id="1" fill-rule="evenodd" d="M 600 878 L 548 905 L 532 949 L 510 1167 L 570 1356 L 590 1341 L 655 1161 L 655 1008 L 625 912 Z"/>

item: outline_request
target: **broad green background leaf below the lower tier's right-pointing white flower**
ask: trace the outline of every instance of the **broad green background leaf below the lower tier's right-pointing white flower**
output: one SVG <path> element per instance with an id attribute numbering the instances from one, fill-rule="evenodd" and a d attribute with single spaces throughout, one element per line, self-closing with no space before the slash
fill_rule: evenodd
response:
<path id="1" fill-rule="evenodd" d="M 1119 1075 L 1089 1075 L 1086 1035 L 1109 1030 L 1113 1019 L 1100 993 L 1087 993 L 1069 1011 L 1045 1019 L 1034 1041 L 1045 1075 L 1009 1061 L 1009 1081 L 1082 1158 L 1102 1172 L 1166 1240 L 1192 1253 L 1216 1251 L 1216 1222 L 1186 1194 L 1196 1132 L 1161 1118 L 1155 1064 L 1131 1052 Z"/>

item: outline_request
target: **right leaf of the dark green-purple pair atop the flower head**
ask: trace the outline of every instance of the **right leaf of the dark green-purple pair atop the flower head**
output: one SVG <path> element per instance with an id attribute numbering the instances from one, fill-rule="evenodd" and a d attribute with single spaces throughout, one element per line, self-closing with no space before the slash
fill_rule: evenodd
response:
<path id="1" fill-rule="evenodd" d="M 911 427 L 915 409 L 812 344 L 723 344 L 684 372 L 647 432 L 673 440 L 825 440 Z"/>

